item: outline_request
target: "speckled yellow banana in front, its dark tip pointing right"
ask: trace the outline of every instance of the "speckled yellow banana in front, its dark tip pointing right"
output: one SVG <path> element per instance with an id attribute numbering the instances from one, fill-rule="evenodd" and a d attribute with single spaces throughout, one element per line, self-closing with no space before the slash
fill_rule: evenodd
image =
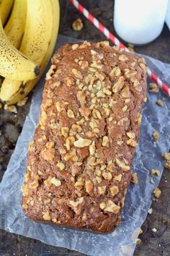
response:
<path id="1" fill-rule="evenodd" d="M 12 46 L 4 33 L 0 19 L 0 75 L 14 80 L 34 79 L 39 68 L 17 48 Z"/>

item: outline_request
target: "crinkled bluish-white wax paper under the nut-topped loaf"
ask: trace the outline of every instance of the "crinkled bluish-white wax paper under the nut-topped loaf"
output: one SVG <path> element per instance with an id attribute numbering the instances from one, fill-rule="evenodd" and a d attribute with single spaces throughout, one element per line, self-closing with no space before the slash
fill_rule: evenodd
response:
<path id="1" fill-rule="evenodd" d="M 74 39 L 58 36 L 58 46 Z M 149 67 L 165 82 L 170 81 L 170 65 L 145 56 Z M 48 66 L 49 68 L 49 66 Z M 164 93 L 148 93 L 148 101 L 143 108 L 141 136 L 133 161 L 133 172 L 137 172 L 138 184 L 130 184 L 122 211 L 122 222 L 110 234 L 92 234 L 73 229 L 61 229 L 31 221 L 24 216 L 21 208 L 21 185 L 24 182 L 25 163 L 28 142 L 32 140 L 40 114 L 40 103 L 45 75 L 38 83 L 30 106 L 22 134 L 20 135 L 8 168 L 0 184 L 0 211 L 4 214 L 1 228 L 23 236 L 39 239 L 45 244 L 66 247 L 94 256 L 133 255 L 135 240 L 138 238 L 140 226 L 145 221 L 153 198 L 153 189 L 158 187 L 161 176 L 153 176 L 155 184 L 150 182 L 151 168 L 163 171 L 164 159 L 161 154 L 169 150 L 170 135 L 170 99 Z M 148 83 L 151 80 L 148 79 Z M 156 105 L 161 98 L 164 107 Z M 152 133 L 158 130 L 160 140 L 153 142 Z M 1 224 L 0 224 L 1 225 Z"/>

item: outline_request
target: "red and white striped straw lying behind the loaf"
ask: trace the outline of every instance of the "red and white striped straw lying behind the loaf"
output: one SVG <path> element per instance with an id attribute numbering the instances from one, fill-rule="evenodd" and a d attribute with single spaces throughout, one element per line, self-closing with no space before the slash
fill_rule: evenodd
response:
<path id="1" fill-rule="evenodd" d="M 113 35 L 111 32 L 109 32 L 109 30 L 107 30 L 106 27 L 104 27 L 104 25 L 102 25 L 102 23 L 99 22 L 99 20 L 97 20 L 86 8 L 84 8 L 81 4 L 79 4 L 79 1 L 76 0 L 69 0 L 71 2 L 71 4 L 73 4 L 74 7 L 76 7 L 76 9 L 79 9 L 79 11 L 84 14 L 84 16 L 87 18 L 87 20 L 89 20 L 91 23 L 93 23 L 93 25 L 95 27 L 98 28 L 98 30 L 100 30 L 109 40 L 112 41 L 112 43 L 115 43 L 116 46 L 118 46 L 119 48 L 124 48 L 125 51 L 129 51 L 128 48 L 126 48 L 126 46 L 124 46 L 123 43 L 120 42 L 120 40 L 118 40 L 115 35 Z M 162 82 L 157 76 L 156 74 L 154 74 L 151 69 L 147 68 L 147 73 L 148 76 L 151 77 L 151 79 L 156 82 L 157 85 L 159 85 L 159 87 L 164 90 L 164 92 L 169 95 L 170 97 L 170 89 L 169 87 Z"/>

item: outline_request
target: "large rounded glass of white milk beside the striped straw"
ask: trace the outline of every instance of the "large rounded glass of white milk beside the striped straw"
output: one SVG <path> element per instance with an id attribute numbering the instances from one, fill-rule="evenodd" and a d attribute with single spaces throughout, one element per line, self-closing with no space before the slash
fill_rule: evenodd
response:
<path id="1" fill-rule="evenodd" d="M 168 0 L 115 0 L 113 24 L 128 43 L 150 43 L 164 26 Z"/>

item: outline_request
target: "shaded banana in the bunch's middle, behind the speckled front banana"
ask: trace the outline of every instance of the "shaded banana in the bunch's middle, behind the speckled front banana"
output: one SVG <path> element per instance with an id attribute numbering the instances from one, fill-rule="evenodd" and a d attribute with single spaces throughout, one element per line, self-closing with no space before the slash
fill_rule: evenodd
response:
<path id="1" fill-rule="evenodd" d="M 27 0 L 15 0 L 12 14 L 9 17 L 4 31 L 7 38 L 16 48 L 19 48 L 24 34 L 24 26 L 27 15 Z"/>

